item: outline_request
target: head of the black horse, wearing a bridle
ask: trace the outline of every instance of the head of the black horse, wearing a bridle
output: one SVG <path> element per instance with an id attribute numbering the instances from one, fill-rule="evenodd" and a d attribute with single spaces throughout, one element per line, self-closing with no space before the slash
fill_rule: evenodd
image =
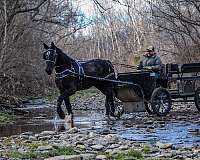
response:
<path id="1" fill-rule="evenodd" d="M 51 46 L 47 46 L 45 43 L 43 44 L 46 51 L 43 53 L 43 59 L 46 61 L 46 69 L 48 75 L 51 75 L 54 67 L 56 66 L 58 53 L 56 51 L 56 46 L 54 43 L 51 43 Z"/>

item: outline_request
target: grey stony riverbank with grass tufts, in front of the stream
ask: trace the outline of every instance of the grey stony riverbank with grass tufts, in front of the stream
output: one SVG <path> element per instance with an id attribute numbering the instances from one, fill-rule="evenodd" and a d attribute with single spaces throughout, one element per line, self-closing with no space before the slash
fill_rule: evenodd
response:
<path id="1" fill-rule="evenodd" d="M 174 146 L 129 141 L 115 134 L 82 132 L 71 128 L 65 132 L 31 132 L 0 139 L 0 159 L 200 159 L 200 146 Z"/>

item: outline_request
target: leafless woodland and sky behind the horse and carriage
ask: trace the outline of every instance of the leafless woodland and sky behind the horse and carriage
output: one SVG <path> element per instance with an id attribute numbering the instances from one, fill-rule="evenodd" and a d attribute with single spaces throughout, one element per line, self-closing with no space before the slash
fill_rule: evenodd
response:
<path id="1" fill-rule="evenodd" d="M 132 64 L 134 55 L 154 45 L 163 63 L 199 61 L 199 0 L 90 0 L 89 17 L 82 3 L 0 1 L 0 94 L 54 90 L 54 77 L 44 71 L 43 42 L 53 41 L 79 60 Z"/>

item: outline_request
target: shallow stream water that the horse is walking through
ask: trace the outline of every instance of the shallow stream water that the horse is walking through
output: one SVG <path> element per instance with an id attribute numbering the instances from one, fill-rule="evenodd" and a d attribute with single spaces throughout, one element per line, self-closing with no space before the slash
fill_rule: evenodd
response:
<path id="1" fill-rule="evenodd" d="M 44 130 L 64 131 L 70 127 L 64 120 L 55 116 L 54 107 L 51 104 L 27 105 L 27 107 L 29 114 L 18 117 L 15 124 L 0 126 L 0 137 L 24 132 L 40 133 Z M 144 125 L 138 128 L 134 125 L 134 118 L 126 116 L 121 120 L 107 121 L 103 111 L 76 110 L 74 112 L 74 127 L 79 128 L 81 132 L 115 133 L 119 137 L 133 141 L 149 143 L 160 141 L 173 144 L 196 143 L 200 145 L 199 124 L 185 121 L 165 121 L 161 126 L 151 128 L 151 125 Z M 128 115 L 128 117 L 130 116 Z M 126 121 L 133 125 L 127 127 Z"/>

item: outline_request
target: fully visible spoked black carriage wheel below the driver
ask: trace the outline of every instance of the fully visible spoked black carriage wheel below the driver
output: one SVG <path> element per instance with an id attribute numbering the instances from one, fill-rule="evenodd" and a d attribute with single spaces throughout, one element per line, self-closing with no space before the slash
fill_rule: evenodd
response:
<path id="1" fill-rule="evenodd" d="M 172 100 L 165 88 L 156 88 L 151 96 L 151 107 L 158 116 L 166 116 L 171 110 Z"/>

